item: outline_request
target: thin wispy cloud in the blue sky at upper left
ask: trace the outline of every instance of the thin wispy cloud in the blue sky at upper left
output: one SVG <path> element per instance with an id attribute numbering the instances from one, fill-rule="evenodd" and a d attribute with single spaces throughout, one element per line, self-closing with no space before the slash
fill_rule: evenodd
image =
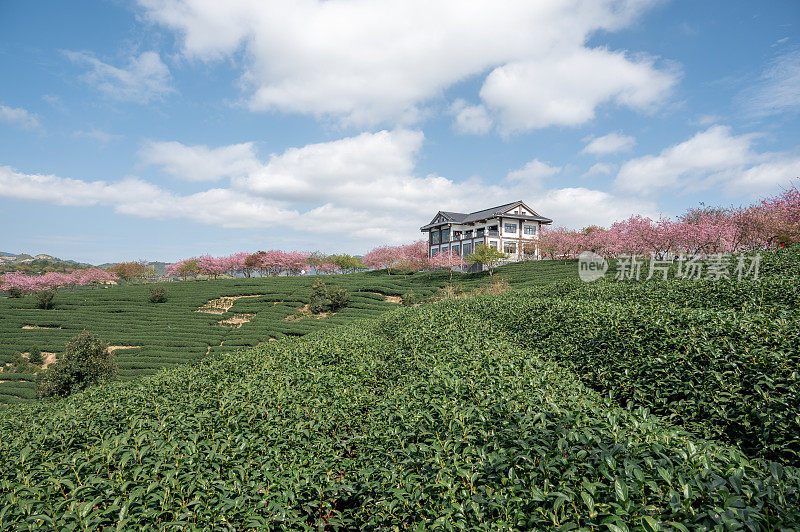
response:
<path id="1" fill-rule="evenodd" d="M 65 51 L 72 61 L 88 66 L 83 80 L 109 98 L 141 104 L 163 99 L 175 92 L 169 68 L 156 52 L 131 57 L 126 68 L 119 68 L 97 59 L 88 52 Z"/>

